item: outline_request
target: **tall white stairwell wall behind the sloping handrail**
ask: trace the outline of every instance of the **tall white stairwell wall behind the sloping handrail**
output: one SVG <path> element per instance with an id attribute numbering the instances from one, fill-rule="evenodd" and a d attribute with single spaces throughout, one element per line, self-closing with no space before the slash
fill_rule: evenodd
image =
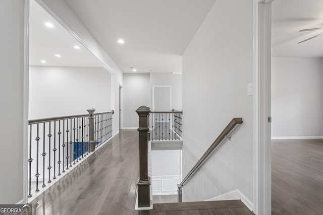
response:
<path id="1" fill-rule="evenodd" d="M 253 2 L 218 0 L 183 55 L 183 177 L 233 117 L 243 119 L 184 186 L 183 201 L 236 189 L 253 201 L 252 48 Z"/>

